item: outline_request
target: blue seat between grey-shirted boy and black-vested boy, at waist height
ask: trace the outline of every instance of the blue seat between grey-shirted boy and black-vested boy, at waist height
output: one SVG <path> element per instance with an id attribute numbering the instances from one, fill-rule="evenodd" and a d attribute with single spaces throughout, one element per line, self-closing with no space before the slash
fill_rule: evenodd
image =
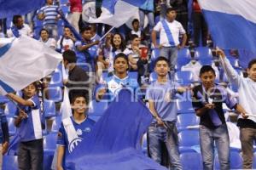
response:
<path id="1" fill-rule="evenodd" d="M 199 117 L 195 116 L 195 113 L 191 114 L 179 114 L 177 115 L 177 130 L 181 131 L 188 126 L 195 126 L 199 124 Z"/>

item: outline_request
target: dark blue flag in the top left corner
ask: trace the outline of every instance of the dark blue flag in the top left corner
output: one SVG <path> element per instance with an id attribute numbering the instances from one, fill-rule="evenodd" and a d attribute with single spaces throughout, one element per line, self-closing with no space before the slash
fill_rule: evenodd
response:
<path id="1" fill-rule="evenodd" d="M 45 0 L 0 0 L 0 19 L 27 14 L 41 8 Z"/>

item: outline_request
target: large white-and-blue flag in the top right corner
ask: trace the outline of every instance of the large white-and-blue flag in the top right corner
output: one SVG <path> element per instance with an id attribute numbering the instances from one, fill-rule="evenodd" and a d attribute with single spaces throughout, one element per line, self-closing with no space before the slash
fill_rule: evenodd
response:
<path id="1" fill-rule="evenodd" d="M 256 51 L 255 0 L 198 0 L 219 48 Z"/>

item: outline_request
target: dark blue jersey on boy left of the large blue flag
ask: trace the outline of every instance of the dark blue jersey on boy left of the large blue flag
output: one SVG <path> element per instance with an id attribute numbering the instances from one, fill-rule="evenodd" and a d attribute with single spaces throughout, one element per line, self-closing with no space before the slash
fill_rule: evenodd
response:
<path id="1" fill-rule="evenodd" d="M 65 119 L 61 122 L 61 127 L 59 129 L 57 145 L 65 146 L 65 158 L 62 161 L 62 165 L 65 167 L 66 157 L 74 150 L 74 148 L 85 139 L 88 133 L 90 133 L 92 127 L 95 122 L 90 118 L 86 118 L 84 122 L 77 123 L 74 121 L 73 116 L 67 117 L 67 119 L 71 120 L 73 128 L 75 130 L 75 134 L 73 134 L 72 130 L 65 124 Z M 67 120 L 66 119 L 66 120 Z M 71 126 L 72 126 L 71 125 Z"/>

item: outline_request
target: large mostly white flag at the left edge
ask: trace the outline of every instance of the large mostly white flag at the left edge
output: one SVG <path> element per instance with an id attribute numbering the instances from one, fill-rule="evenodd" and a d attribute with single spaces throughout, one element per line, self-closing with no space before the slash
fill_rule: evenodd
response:
<path id="1" fill-rule="evenodd" d="M 0 94 L 18 91 L 46 77 L 61 59 L 61 54 L 31 37 L 0 39 Z"/>

